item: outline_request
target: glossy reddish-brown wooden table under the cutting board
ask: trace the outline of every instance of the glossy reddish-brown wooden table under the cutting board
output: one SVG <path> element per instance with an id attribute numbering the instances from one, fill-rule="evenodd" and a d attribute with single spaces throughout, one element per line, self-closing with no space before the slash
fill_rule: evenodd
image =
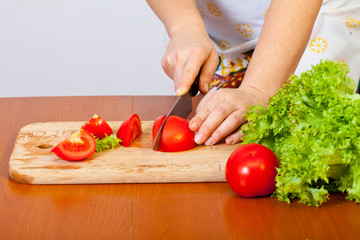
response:
<path id="1" fill-rule="evenodd" d="M 195 99 L 197 103 L 199 99 Z M 359 239 L 360 205 L 240 198 L 227 183 L 25 185 L 9 178 L 20 128 L 97 113 L 153 120 L 173 96 L 0 98 L 0 239 Z"/>

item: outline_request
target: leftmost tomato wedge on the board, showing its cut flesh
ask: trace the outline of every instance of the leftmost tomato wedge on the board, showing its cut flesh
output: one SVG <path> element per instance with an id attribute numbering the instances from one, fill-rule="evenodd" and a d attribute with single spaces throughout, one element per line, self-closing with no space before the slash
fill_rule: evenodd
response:
<path id="1" fill-rule="evenodd" d="M 91 156 L 96 150 L 94 137 L 84 129 L 80 129 L 71 137 L 56 145 L 51 152 L 64 160 L 78 161 Z"/>

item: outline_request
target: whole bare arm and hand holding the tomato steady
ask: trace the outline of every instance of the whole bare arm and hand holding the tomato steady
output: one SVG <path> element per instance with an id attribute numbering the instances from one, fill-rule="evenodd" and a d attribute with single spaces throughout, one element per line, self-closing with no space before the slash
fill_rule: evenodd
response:
<path id="1" fill-rule="evenodd" d="M 240 87 L 208 93 L 190 120 L 198 144 L 213 145 L 228 135 L 226 143 L 241 140 L 237 130 L 245 121 L 247 106 L 262 103 L 265 107 L 295 71 L 321 4 L 322 0 L 271 1 Z"/>

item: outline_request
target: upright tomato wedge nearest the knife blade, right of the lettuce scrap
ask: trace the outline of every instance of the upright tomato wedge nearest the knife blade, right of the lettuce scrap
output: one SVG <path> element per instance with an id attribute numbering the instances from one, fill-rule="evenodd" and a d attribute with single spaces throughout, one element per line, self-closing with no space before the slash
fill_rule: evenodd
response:
<path id="1" fill-rule="evenodd" d="M 121 139 L 121 144 L 124 147 L 129 147 L 131 143 L 141 135 L 141 133 L 142 129 L 140 118 L 137 114 L 133 114 L 121 123 L 116 136 Z"/>

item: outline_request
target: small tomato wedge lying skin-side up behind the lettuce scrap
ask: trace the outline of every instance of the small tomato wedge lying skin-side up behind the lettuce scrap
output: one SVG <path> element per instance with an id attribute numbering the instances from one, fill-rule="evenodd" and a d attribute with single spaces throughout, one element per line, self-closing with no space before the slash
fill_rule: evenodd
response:
<path id="1" fill-rule="evenodd" d="M 109 124 L 96 114 L 84 126 L 82 126 L 82 129 L 92 133 L 99 139 L 103 139 L 106 135 L 110 136 L 113 134 Z"/>

